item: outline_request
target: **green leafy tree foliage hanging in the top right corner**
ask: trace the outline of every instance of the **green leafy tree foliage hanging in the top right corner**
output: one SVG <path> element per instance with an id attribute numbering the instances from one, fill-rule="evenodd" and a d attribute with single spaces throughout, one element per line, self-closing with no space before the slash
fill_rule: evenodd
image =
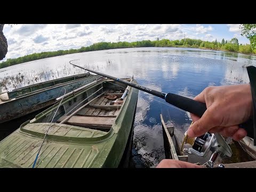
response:
<path id="1" fill-rule="evenodd" d="M 256 49 L 256 24 L 242 24 L 242 36 L 250 40 L 254 49 Z"/>

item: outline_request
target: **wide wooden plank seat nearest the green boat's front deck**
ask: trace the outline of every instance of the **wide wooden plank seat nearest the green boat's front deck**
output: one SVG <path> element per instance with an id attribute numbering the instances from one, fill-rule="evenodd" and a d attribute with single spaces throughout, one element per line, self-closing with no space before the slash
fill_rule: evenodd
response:
<path id="1" fill-rule="evenodd" d="M 62 116 L 57 120 L 60 123 L 67 116 Z M 88 117 L 88 116 L 73 116 L 65 122 L 68 125 L 82 126 L 82 127 L 104 127 L 111 128 L 116 117 Z"/>

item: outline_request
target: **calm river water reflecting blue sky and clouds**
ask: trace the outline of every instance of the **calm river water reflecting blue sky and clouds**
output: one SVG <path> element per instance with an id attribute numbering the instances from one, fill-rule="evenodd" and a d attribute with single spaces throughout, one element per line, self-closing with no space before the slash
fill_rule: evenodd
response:
<path id="1" fill-rule="evenodd" d="M 70 60 L 118 78 L 131 77 L 138 84 L 164 93 L 194 98 L 205 87 L 248 83 L 246 66 L 256 66 L 254 55 L 174 47 L 141 47 L 63 55 L 30 61 L 0 69 L 2 89 L 12 90 L 28 84 L 81 74 Z M 21 81 L 22 78 L 26 81 Z M 12 78 L 11 78 L 12 77 Z M 12 79 L 12 80 L 10 80 Z M 155 167 L 163 158 L 163 133 L 160 120 L 175 126 L 181 141 L 188 129 L 189 113 L 168 105 L 163 99 L 139 91 L 134 121 L 132 162 L 135 167 Z M 18 128 L 18 127 L 17 127 Z"/>

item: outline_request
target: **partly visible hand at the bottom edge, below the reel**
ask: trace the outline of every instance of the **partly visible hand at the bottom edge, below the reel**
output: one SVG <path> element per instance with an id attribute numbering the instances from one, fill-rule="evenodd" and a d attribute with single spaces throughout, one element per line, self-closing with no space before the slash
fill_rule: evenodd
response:
<path id="1" fill-rule="evenodd" d="M 156 168 L 202 168 L 202 166 L 174 159 L 163 159 Z"/>

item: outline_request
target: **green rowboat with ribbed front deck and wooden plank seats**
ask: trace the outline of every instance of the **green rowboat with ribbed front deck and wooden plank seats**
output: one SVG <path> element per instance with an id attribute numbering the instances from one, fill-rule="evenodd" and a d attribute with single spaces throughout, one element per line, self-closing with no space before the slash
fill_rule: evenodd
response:
<path id="1" fill-rule="evenodd" d="M 137 83 L 133 78 L 125 79 Z M 122 97 L 122 99 L 121 99 Z M 23 123 L 0 142 L 0 167 L 118 167 L 132 131 L 138 90 L 101 79 Z M 49 118 L 50 116 L 50 118 Z"/>

